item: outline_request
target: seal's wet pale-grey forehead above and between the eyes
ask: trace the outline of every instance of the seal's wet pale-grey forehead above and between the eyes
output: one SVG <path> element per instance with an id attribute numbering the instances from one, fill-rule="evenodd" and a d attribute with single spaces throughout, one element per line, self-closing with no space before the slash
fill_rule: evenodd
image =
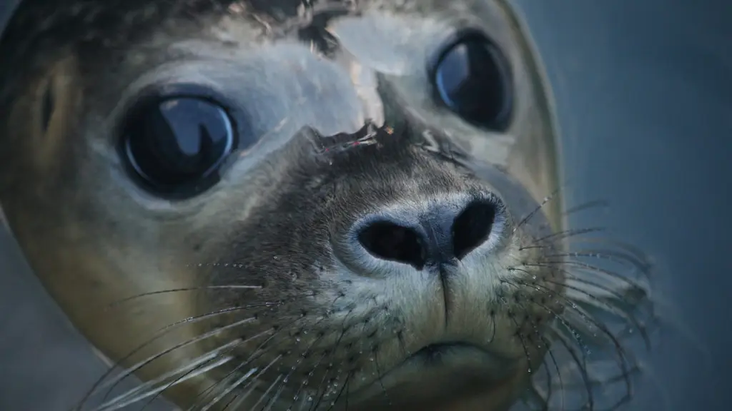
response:
<path id="1" fill-rule="evenodd" d="M 247 99 L 235 104 L 257 100 L 273 110 L 327 92 L 342 94 L 348 107 L 355 88 L 361 101 L 353 104 L 365 102 L 362 112 L 343 113 L 351 117 L 347 125 L 321 130 L 354 131 L 362 117 L 380 116 L 377 73 L 391 76 L 409 105 L 427 102 L 427 61 L 460 27 L 482 29 L 509 59 L 520 60 L 520 39 L 507 17 L 490 0 L 26 0 L 0 47 L 4 60 L 19 63 L 3 78 L 19 81 L 4 81 L 1 94 L 22 88 L 34 67 L 43 75 L 49 60 L 68 52 L 78 61 L 86 101 L 94 102 L 85 113 L 109 117 L 151 84 L 235 85 Z M 253 132 L 283 120 L 252 116 L 269 118 Z"/>

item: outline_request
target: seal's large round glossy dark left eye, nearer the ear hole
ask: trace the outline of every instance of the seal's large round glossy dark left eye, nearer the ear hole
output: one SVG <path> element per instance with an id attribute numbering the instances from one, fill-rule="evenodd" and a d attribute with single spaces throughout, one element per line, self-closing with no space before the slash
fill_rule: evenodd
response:
<path id="1" fill-rule="evenodd" d="M 178 186 L 210 176 L 231 151 L 232 125 L 196 97 L 157 99 L 127 122 L 127 156 L 149 183 Z"/>

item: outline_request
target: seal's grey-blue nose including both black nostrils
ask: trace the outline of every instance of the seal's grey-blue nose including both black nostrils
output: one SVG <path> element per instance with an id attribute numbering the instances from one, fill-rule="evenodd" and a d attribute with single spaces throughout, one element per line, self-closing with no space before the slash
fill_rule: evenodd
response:
<path id="1" fill-rule="evenodd" d="M 422 270 L 455 263 L 490 238 L 496 226 L 496 200 L 430 200 L 371 214 L 358 227 L 358 244 L 370 257 Z"/>

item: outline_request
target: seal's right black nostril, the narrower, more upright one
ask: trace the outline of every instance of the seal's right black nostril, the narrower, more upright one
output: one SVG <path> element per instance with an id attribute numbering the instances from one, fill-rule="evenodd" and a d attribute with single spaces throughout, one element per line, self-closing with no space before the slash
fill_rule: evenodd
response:
<path id="1" fill-rule="evenodd" d="M 496 219 L 496 206 L 474 202 L 467 206 L 452 223 L 452 251 L 458 260 L 482 244 Z"/>

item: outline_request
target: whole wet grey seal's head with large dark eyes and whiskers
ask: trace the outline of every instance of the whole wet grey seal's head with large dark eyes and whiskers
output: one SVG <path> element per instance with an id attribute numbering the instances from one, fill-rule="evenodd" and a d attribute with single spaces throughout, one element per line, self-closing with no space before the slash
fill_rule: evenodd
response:
<path id="1" fill-rule="evenodd" d="M 630 393 L 647 263 L 570 247 L 594 230 L 567 227 L 550 88 L 504 2 L 26 0 L 0 56 L 7 224 L 123 368 L 80 409 Z"/>

